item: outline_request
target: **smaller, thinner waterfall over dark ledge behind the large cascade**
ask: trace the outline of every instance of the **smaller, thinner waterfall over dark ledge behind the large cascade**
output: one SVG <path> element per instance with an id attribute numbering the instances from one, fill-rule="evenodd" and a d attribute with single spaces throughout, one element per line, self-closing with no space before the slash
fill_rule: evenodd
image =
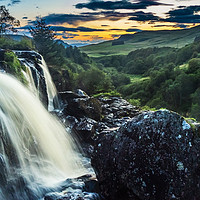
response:
<path id="1" fill-rule="evenodd" d="M 34 92 L 36 96 L 41 96 L 41 81 L 45 82 L 44 91 L 48 98 L 48 110 L 53 111 L 55 108 L 59 108 L 59 102 L 57 98 L 56 87 L 52 81 L 48 67 L 44 58 L 35 51 L 14 51 L 18 56 L 20 62 L 26 67 L 25 77 L 29 83 L 29 88 Z M 33 81 L 34 80 L 34 81 Z"/>

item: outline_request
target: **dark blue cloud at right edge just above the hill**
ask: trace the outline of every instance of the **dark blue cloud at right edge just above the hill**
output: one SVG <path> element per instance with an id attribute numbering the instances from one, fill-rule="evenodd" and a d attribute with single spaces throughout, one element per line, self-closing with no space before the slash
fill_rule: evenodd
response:
<path id="1" fill-rule="evenodd" d="M 200 23 L 200 5 L 183 7 L 170 10 L 167 14 L 167 18 L 162 19 L 164 22 L 176 22 L 176 23 Z"/>

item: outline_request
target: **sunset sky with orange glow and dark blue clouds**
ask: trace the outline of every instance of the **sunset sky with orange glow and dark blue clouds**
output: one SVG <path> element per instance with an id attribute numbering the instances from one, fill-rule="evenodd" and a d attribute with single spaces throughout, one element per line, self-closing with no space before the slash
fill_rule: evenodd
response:
<path id="1" fill-rule="evenodd" d="M 85 45 L 144 30 L 200 25 L 200 0 L 0 0 L 28 34 L 44 18 L 57 38 Z"/>

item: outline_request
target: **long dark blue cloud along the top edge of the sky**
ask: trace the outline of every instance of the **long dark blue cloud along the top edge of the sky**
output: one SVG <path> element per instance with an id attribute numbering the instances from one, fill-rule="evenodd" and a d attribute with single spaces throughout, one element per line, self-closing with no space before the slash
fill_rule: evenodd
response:
<path id="1" fill-rule="evenodd" d="M 169 5 L 159 3 L 158 0 L 139 0 L 136 3 L 132 3 L 128 0 L 121 1 L 103 1 L 103 0 L 92 0 L 89 3 L 78 3 L 75 5 L 76 8 L 82 9 L 87 8 L 90 10 L 117 10 L 117 9 L 146 9 L 149 6 Z"/>

